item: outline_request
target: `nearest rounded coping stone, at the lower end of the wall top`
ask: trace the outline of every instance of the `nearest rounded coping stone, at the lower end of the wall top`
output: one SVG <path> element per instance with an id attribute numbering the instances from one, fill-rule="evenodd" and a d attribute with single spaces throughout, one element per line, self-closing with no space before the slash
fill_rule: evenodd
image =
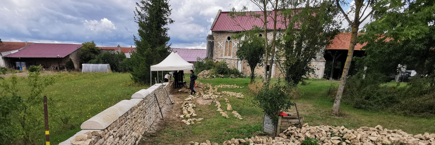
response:
<path id="1" fill-rule="evenodd" d="M 92 118 L 89 118 L 87 121 L 84 121 L 82 125 L 80 125 L 81 129 L 106 129 L 107 126 L 111 125 L 114 121 L 110 116 L 105 114 L 97 114 Z"/>

